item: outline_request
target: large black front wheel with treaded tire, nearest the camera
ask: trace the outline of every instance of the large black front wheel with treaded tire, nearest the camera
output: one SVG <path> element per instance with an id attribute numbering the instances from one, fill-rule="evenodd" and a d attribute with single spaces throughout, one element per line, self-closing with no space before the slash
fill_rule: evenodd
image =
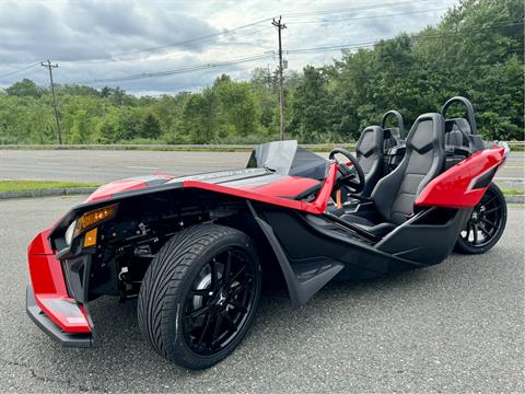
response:
<path id="1" fill-rule="evenodd" d="M 167 241 L 148 268 L 139 293 L 139 327 L 170 361 L 209 368 L 243 339 L 260 290 L 260 264 L 245 233 L 194 225 Z"/>

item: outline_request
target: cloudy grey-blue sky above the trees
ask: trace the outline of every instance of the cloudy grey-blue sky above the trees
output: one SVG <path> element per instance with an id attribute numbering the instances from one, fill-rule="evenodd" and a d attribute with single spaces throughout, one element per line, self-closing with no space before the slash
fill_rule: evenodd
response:
<path id="1" fill-rule="evenodd" d="M 340 58 L 337 47 L 435 25 L 457 2 L 0 0 L 0 88 L 23 78 L 48 84 L 40 61 L 50 59 L 56 83 L 118 85 L 136 95 L 199 91 L 221 73 L 247 80 L 254 68 L 278 67 L 272 18 L 282 15 L 284 59 L 300 71 Z M 327 47 L 336 48 L 318 49 Z"/>

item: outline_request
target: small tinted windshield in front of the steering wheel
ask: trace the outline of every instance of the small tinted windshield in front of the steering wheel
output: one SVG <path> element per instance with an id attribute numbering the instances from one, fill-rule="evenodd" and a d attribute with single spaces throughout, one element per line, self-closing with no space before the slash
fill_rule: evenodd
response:
<path id="1" fill-rule="evenodd" d="M 320 181 L 326 177 L 328 161 L 299 147 L 298 141 L 275 141 L 255 147 L 246 167 Z"/>

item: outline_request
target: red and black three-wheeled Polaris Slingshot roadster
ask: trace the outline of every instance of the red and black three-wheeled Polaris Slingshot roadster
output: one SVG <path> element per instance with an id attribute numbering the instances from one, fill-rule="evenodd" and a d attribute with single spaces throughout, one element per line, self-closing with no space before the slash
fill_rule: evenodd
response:
<path id="1" fill-rule="evenodd" d="M 446 118 L 453 103 L 466 118 Z M 392 116 L 398 126 L 387 128 Z M 491 248 L 506 222 L 491 181 L 508 147 L 485 146 L 464 97 L 402 134 L 392 111 L 363 130 L 357 157 L 341 148 L 326 160 L 295 141 L 270 142 L 246 169 L 102 186 L 28 246 L 27 313 L 63 346 L 92 347 L 89 302 L 138 297 L 153 348 L 203 369 L 240 344 L 264 282 L 282 279 L 300 306 L 332 279 Z"/>

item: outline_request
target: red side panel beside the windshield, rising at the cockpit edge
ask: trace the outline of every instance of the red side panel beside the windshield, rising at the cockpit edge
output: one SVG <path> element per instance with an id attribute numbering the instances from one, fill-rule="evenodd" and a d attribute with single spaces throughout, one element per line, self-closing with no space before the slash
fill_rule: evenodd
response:
<path id="1" fill-rule="evenodd" d="M 301 187 L 301 192 L 304 189 L 307 189 L 308 187 L 305 187 L 306 182 L 308 184 L 312 184 L 312 186 L 315 186 L 315 184 L 311 183 L 312 179 L 299 178 L 299 177 L 288 177 L 282 179 L 282 181 L 288 179 L 289 184 L 287 183 L 280 184 L 279 182 L 276 182 L 273 184 L 253 187 L 253 188 L 250 188 L 249 186 L 245 186 L 244 188 L 230 187 L 230 186 L 211 184 L 211 183 L 201 182 L 201 181 L 184 181 L 183 185 L 185 188 L 200 188 L 203 190 L 212 190 L 217 193 L 246 198 L 249 200 L 267 202 L 267 204 L 271 204 L 280 207 L 292 208 L 292 209 L 303 210 L 310 213 L 320 215 L 326 210 L 328 199 L 334 188 L 334 183 L 336 182 L 336 176 L 337 176 L 337 163 L 332 163 L 328 171 L 328 176 L 324 181 L 323 186 L 319 193 L 317 194 L 316 199 L 312 202 L 299 201 L 294 199 L 280 197 L 280 196 L 285 196 L 292 189 L 296 192 L 299 187 Z M 314 182 L 317 182 L 317 181 L 314 181 Z M 295 183 L 295 185 L 293 185 L 293 183 Z M 265 187 L 266 187 L 266 193 L 265 193 Z"/>

